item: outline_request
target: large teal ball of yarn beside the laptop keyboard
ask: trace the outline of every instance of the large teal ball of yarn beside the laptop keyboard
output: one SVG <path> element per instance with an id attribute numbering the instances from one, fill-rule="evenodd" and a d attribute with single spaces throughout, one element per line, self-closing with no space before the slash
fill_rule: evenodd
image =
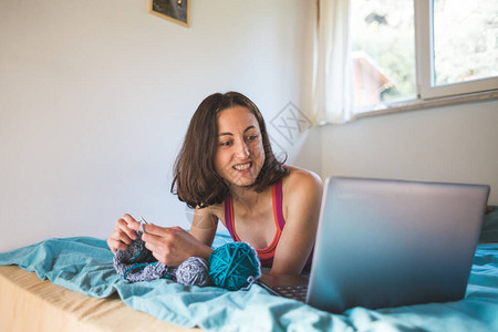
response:
<path id="1" fill-rule="evenodd" d="M 258 253 L 246 242 L 226 243 L 209 256 L 209 277 L 217 287 L 247 290 L 261 277 Z"/>

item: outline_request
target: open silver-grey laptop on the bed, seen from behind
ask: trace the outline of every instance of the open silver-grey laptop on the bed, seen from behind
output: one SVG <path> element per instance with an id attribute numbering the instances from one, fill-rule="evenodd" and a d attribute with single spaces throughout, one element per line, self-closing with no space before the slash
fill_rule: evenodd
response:
<path id="1" fill-rule="evenodd" d="M 334 313 L 460 300 L 488 195 L 486 185 L 328 178 L 309 278 L 260 284 Z"/>

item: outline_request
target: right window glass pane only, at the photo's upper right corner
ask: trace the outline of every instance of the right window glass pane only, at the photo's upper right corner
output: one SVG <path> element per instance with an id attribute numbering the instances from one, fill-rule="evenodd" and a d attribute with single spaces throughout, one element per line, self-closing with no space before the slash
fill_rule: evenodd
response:
<path id="1" fill-rule="evenodd" d="M 498 75 L 498 1 L 433 1 L 433 85 Z"/>

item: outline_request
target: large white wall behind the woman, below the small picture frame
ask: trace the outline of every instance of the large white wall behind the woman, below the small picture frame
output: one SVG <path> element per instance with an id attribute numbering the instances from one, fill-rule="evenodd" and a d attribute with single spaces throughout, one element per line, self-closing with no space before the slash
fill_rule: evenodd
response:
<path id="1" fill-rule="evenodd" d="M 169 185 L 199 102 L 240 91 L 267 120 L 307 104 L 305 1 L 194 0 L 188 29 L 146 9 L 146 0 L 0 2 L 0 251 L 106 238 L 124 212 L 188 227 Z M 297 164 L 304 134 L 282 144 Z M 318 160 L 304 164 L 319 170 Z"/>

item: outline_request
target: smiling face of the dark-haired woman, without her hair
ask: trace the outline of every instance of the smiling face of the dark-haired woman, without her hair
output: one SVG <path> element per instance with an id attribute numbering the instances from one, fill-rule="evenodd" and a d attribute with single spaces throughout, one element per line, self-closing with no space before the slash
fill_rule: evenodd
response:
<path id="1" fill-rule="evenodd" d="M 264 148 L 256 116 L 243 106 L 218 113 L 215 169 L 229 185 L 252 185 L 264 164 Z"/>

